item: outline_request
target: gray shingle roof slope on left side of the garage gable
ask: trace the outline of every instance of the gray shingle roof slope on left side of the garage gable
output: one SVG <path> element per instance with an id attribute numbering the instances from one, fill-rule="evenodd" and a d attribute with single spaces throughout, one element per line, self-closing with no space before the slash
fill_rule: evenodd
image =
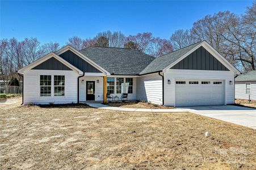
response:
<path id="1" fill-rule="evenodd" d="M 162 71 L 171 63 L 177 61 L 177 59 L 181 58 L 184 54 L 189 52 L 191 49 L 195 48 L 195 46 L 200 44 L 201 42 L 192 44 L 190 46 L 186 46 L 185 48 L 157 57 L 143 71 L 141 71 L 140 74 L 148 74 L 148 73 L 154 73 L 157 71 Z"/>

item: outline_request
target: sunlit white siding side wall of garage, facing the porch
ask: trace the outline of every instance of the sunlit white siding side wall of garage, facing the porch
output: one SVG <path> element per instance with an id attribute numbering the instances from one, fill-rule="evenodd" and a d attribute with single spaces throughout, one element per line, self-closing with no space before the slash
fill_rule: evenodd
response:
<path id="1" fill-rule="evenodd" d="M 137 100 L 162 104 L 162 77 L 156 73 L 137 78 Z"/>

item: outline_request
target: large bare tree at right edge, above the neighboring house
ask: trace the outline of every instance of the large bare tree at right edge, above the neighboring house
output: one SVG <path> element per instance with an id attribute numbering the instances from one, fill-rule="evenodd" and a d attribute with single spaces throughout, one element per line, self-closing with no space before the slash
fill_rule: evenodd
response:
<path id="1" fill-rule="evenodd" d="M 226 32 L 220 35 L 225 39 L 226 55 L 234 61 L 240 61 L 244 70 L 256 69 L 256 27 L 255 27 L 255 3 L 247 8 L 246 14 L 236 20 L 229 20 L 224 24 Z M 254 12 L 253 12 L 254 11 Z"/>

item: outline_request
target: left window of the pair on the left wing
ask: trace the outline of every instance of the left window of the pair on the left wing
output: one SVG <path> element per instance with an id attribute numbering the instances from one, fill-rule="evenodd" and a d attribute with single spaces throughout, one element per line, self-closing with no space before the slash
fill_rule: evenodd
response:
<path id="1" fill-rule="evenodd" d="M 40 96 L 51 96 L 51 75 L 40 75 Z"/>

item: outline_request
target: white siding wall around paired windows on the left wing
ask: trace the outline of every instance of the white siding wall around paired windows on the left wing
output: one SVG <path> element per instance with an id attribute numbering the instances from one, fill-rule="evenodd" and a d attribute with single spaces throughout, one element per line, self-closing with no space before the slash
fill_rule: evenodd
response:
<path id="1" fill-rule="evenodd" d="M 52 75 L 52 96 L 40 96 L 40 75 Z M 54 96 L 54 75 L 65 75 L 65 96 Z M 27 70 L 24 73 L 24 104 L 77 103 L 77 78 L 77 71 Z"/>

